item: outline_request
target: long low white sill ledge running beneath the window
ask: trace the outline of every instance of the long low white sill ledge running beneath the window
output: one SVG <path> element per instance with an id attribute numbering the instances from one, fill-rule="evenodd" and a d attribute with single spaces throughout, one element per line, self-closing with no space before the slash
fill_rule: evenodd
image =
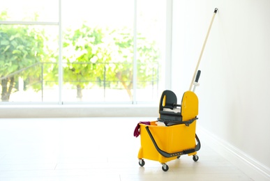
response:
<path id="1" fill-rule="evenodd" d="M 158 117 L 154 105 L 1 105 L 0 118 Z"/>

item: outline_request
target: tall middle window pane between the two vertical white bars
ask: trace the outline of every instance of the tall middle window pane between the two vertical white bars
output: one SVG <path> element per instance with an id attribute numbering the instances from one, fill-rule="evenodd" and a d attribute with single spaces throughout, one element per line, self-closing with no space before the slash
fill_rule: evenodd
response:
<path id="1" fill-rule="evenodd" d="M 126 0 L 63 1 L 63 101 L 132 101 L 133 8 Z"/>

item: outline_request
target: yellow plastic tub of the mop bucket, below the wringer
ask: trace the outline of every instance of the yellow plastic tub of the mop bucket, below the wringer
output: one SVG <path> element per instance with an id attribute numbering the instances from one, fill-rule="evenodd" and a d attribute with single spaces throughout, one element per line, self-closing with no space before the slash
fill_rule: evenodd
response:
<path id="1" fill-rule="evenodd" d="M 147 129 L 145 129 L 147 126 L 158 147 L 165 152 L 173 153 L 195 148 L 196 120 L 189 126 L 182 124 L 169 127 L 157 126 L 156 121 L 151 121 L 151 125 L 140 124 L 141 148 L 138 153 L 139 159 L 150 159 L 160 163 L 177 159 L 177 156 L 167 158 L 160 155 L 153 145 Z M 196 152 L 193 152 L 188 155 L 195 154 Z"/>

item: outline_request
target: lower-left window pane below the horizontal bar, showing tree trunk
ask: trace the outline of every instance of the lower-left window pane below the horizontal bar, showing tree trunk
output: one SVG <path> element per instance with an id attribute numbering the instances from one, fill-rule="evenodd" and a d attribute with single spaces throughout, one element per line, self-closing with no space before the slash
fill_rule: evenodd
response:
<path id="1" fill-rule="evenodd" d="M 59 100 L 57 32 L 57 26 L 0 25 L 2 102 Z"/>

